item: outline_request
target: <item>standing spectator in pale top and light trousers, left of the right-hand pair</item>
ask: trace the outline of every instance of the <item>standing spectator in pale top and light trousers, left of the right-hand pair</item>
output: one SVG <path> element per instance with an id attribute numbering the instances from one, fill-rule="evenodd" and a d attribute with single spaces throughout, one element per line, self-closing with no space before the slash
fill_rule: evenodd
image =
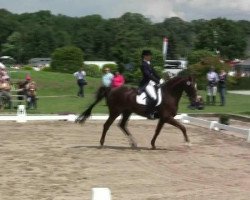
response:
<path id="1" fill-rule="evenodd" d="M 216 102 L 216 93 L 217 93 L 217 83 L 218 83 L 218 74 L 214 71 L 214 67 L 211 66 L 210 71 L 207 73 L 207 104 L 215 105 Z"/>

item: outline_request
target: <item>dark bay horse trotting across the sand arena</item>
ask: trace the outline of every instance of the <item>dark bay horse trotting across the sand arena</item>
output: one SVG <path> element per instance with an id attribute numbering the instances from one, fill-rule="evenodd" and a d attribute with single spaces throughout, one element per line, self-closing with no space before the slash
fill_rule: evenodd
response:
<path id="1" fill-rule="evenodd" d="M 174 117 L 177 114 L 178 104 L 183 91 L 186 92 L 191 102 L 195 102 L 197 99 L 195 82 L 192 77 L 175 77 L 170 79 L 168 82 L 163 83 L 160 87 L 162 90 L 162 102 L 158 107 L 156 107 L 159 115 L 159 121 L 155 130 L 155 134 L 151 140 L 153 149 L 156 148 L 155 141 L 160 134 L 164 123 L 169 123 L 179 128 L 184 135 L 185 141 L 189 142 L 186 128 L 179 121 L 174 119 Z M 106 102 L 109 108 L 109 117 L 103 126 L 100 144 L 103 146 L 109 127 L 119 115 L 122 115 L 122 118 L 119 122 L 119 127 L 128 136 L 130 145 L 132 147 L 136 147 L 137 144 L 127 129 L 127 122 L 132 113 L 146 116 L 146 106 L 136 103 L 136 95 L 136 88 L 129 88 L 126 86 L 113 89 L 100 87 L 97 91 L 95 102 L 93 102 L 81 115 L 79 115 L 79 117 L 76 119 L 76 122 L 85 122 L 85 120 L 91 115 L 91 111 L 94 106 L 104 97 L 106 97 Z"/>

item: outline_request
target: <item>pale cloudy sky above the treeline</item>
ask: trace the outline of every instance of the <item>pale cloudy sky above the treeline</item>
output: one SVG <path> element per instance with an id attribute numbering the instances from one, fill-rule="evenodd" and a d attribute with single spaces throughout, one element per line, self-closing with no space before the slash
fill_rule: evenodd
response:
<path id="1" fill-rule="evenodd" d="M 132 12 L 153 22 L 169 17 L 186 21 L 217 17 L 250 20 L 250 0 L 0 0 L 0 8 L 18 14 L 50 10 L 72 17 L 99 14 L 103 18 Z"/>

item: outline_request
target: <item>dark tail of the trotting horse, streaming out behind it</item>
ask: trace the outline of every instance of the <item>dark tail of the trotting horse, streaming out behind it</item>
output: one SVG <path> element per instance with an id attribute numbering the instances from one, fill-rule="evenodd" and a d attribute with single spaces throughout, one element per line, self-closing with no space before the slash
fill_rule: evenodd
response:
<path id="1" fill-rule="evenodd" d="M 109 91 L 110 91 L 110 88 L 101 86 L 97 90 L 95 101 L 85 111 L 83 111 L 79 115 L 79 117 L 75 120 L 75 122 L 76 123 L 84 123 L 86 121 L 86 119 L 88 119 L 90 117 L 91 111 L 95 107 L 95 105 L 98 104 L 104 97 L 106 97 Z"/>

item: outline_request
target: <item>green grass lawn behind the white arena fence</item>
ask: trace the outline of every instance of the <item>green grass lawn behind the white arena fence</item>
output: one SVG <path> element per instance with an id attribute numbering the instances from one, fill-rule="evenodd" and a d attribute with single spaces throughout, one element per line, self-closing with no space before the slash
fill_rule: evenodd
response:
<path id="1" fill-rule="evenodd" d="M 78 87 L 72 74 L 17 71 L 10 72 L 10 76 L 12 79 L 24 80 L 26 73 L 30 73 L 32 79 L 36 81 L 39 97 L 37 110 L 28 110 L 28 113 L 80 113 L 93 102 L 95 92 L 101 85 L 100 78 L 87 77 L 88 85 L 85 87 L 85 98 L 78 98 L 76 96 Z M 199 94 L 205 99 L 205 91 L 200 91 Z M 226 106 L 206 106 L 204 110 L 190 110 L 187 108 L 188 99 L 183 95 L 179 105 L 179 113 L 230 113 L 250 115 L 250 96 L 227 94 L 226 100 Z M 217 102 L 219 102 L 219 95 L 217 95 Z M 4 110 L 2 112 L 10 112 L 10 110 Z M 11 112 L 16 111 L 12 110 Z M 107 113 L 105 102 L 100 102 L 94 108 L 93 113 Z"/>

